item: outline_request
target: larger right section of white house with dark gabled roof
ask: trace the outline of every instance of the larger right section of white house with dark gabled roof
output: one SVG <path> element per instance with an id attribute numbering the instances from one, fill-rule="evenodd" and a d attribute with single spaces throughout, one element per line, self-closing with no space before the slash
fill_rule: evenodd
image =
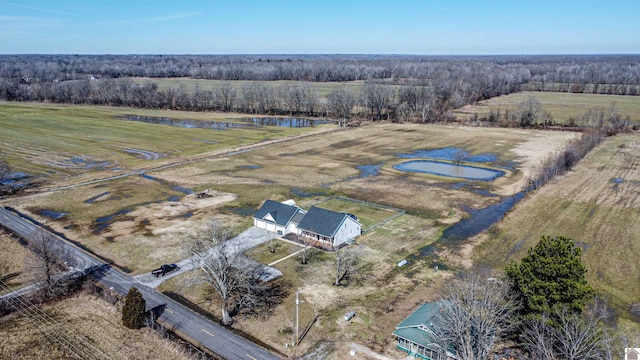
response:
<path id="1" fill-rule="evenodd" d="M 355 215 L 312 206 L 298 224 L 300 235 L 317 245 L 337 248 L 360 236 L 362 225 Z"/>

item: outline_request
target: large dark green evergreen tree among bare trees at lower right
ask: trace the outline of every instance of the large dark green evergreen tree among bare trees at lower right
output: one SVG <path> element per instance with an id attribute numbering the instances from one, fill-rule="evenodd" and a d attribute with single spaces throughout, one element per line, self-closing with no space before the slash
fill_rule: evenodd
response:
<path id="1" fill-rule="evenodd" d="M 593 300 L 595 290 L 587 284 L 581 255 L 570 238 L 543 236 L 519 263 L 507 266 L 523 315 L 551 315 L 560 308 L 580 313 Z"/>

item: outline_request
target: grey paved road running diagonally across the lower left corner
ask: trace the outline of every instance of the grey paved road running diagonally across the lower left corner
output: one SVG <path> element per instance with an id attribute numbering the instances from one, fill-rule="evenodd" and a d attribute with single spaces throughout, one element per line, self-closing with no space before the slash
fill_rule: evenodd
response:
<path id="1" fill-rule="evenodd" d="M 3 207 L 0 207 L 0 224 L 24 238 L 29 238 L 31 234 L 39 230 L 39 225 L 21 218 Z M 230 360 L 279 359 L 271 352 L 249 340 L 226 330 L 159 292 L 140 284 L 132 277 L 108 266 L 61 237 L 56 236 L 56 238 L 69 250 L 69 254 L 73 254 L 67 259 L 70 266 L 81 271 L 99 269 L 99 271 L 94 272 L 94 276 L 98 281 L 106 288 L 110 288 L 122 296 L 126 295 L 131 286 L 136 286 L 140 289 L 147 302 L 147 309 L 162 309 L 162 314 L 158 321 L 176 333 L 183 335 L 191 342 L 201 344 Z"/>

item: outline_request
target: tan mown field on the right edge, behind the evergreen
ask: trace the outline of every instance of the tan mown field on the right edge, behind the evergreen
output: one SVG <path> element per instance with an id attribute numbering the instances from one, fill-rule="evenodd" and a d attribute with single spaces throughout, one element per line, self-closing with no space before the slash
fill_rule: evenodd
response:
<path id="1" fill-rule="evenodd" d="M 625 323 L 631 318 L 628 307 L 640 303 L 638 179 L 638 135 L 609 138 L 573 171 L 531 194 L 479 236 L 473 258 L 501 269 L 524 256 L 542 235 L 570 237 L 583 248 L 588 281 Z"/>

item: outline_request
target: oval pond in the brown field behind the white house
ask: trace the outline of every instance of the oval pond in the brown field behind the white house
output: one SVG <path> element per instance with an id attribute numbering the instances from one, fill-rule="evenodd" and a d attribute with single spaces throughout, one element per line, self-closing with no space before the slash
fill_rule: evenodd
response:
<path id="1" fill-rule="evenodd" d="M 432 160 L 411 160 L 393 166 L 394 169 L 405 172 L 427 173 L 440 176 L 463 178 L 469 180 L 492 181 L 505 172 L 501 170 L 485 169 L 469 165 L 456 165 L 452 163 Z"/>

